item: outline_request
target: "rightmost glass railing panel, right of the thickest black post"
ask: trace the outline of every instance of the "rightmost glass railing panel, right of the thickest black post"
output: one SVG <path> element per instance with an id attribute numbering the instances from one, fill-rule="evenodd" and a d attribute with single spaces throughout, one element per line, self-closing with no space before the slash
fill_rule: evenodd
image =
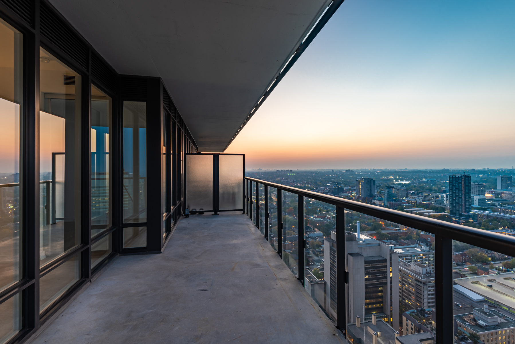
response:
<path id="1" fill-rule="evenodd" d="M 487 230 L 502 228 L 499 233 L 515 234 L 509 223 L 494 222 L 495 219 L 490 219 L 469 225 Z M 454 339 L 513 343 L 515 259 L 455 240 L 452 250 Z"/>

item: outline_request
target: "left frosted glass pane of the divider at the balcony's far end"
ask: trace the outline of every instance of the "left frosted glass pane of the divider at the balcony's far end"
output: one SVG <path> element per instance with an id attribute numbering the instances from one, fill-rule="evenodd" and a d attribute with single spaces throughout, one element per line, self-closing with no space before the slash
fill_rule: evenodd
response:
<path id="1" fill-rule="evenodd" d="M 186 208 L 213 210 L 213 155 L 186 155 Z"/>

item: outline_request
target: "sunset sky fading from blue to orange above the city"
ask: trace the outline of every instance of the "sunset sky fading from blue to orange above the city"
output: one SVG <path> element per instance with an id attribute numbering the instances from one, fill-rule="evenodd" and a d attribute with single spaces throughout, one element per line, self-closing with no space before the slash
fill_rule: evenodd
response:
<path id="1" fill-rule="evenodd" d="M 346 0 L 226 153 L 247 168 L 515 165 L 515 2 Z"/>

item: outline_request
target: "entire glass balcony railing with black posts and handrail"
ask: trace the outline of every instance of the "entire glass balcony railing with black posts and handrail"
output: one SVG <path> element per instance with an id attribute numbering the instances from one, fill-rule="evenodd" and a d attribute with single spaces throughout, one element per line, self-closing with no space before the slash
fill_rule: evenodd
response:
<path id="1" fill-rule="evenodd" d="M 515 236 L 246 185 L 247 214 L 348 342 L 514 343 Z"/>

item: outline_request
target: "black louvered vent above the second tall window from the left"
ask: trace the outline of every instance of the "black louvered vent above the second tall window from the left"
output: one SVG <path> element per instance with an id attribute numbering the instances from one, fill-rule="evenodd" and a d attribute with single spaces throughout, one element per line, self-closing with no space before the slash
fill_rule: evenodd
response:
<path id="1" fill-rule="evenodd" d="M 43 37 L 88 70 L 88 46 L 44 2 L 41 2 L 40 29 Z"/>

